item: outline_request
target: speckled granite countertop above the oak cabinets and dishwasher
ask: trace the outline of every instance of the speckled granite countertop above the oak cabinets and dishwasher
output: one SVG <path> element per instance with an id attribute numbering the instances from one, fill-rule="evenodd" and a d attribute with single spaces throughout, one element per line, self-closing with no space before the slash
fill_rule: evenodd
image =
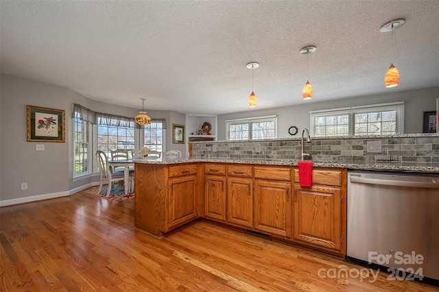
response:
<path id="1" fill-rule="evenodd" d="M 239 158 L 212 158 L 212 159 L 167 159 L 158 158 L 155 160 L 138 160 L 138 163 L 148 164 L 178 164 L 187 162 L 222 162 L 242 163 L 252 165 L 289 165 L 297 166 L 300 160 L 296 159 L 264 159 L 264 160 L 243 160 Z M 373 164 L 372 164 L 373 163 Z M 379 162 L 329 162 L 313 161 L 314 167 L 342 167 L 346 169 L 372 170 L 372 171 L 412 171 L 425 173 L 439 173 L 439 162 L 401 162 L 401 161 L 379 161 Z"/>

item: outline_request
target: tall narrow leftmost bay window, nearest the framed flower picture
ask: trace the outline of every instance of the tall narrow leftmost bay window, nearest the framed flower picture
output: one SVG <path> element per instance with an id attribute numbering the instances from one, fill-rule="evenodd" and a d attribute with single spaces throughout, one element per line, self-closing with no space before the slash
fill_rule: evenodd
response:
<path id="1" fill-rule="evenodd" d="M 88 124 L 81 118 L 80 112 L 74 112 L 75 127 L 75 173 L 74 175 L 81 175 L 88 173 Z"/>

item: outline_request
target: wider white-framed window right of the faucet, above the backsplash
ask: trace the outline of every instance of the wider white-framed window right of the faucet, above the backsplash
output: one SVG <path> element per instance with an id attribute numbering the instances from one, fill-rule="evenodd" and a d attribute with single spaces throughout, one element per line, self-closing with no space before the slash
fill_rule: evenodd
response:
<path id="1" fill-rule="evenodd" d="M 404 133 L 404 103 L 355 106 L 310 112 L 311 136 L 390 135 Z"/>

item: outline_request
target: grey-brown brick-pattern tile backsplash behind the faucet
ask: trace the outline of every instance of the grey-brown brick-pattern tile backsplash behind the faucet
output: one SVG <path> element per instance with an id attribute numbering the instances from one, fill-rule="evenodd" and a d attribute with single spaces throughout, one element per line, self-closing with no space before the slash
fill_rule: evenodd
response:
<path id="1" fill-rule="evenodd" d="M 368 152 L 368 141 L 381 142 L 381 153 Z M 193 142 L 193 158 L 300 160 L 301 147 L 300 138 Z M 304 151 L 315 161 L 439 162 L 439 134 L 311 138 Z"/>

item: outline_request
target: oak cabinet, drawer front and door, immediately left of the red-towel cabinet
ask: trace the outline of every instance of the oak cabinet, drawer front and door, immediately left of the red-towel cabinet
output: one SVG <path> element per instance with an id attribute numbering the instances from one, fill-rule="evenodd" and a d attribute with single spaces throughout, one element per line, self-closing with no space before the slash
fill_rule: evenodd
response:
<path id="1" fill-rule="evenodd" d="M 254 167 L 254 229 L 290 238 L 292 167 Z"/>

